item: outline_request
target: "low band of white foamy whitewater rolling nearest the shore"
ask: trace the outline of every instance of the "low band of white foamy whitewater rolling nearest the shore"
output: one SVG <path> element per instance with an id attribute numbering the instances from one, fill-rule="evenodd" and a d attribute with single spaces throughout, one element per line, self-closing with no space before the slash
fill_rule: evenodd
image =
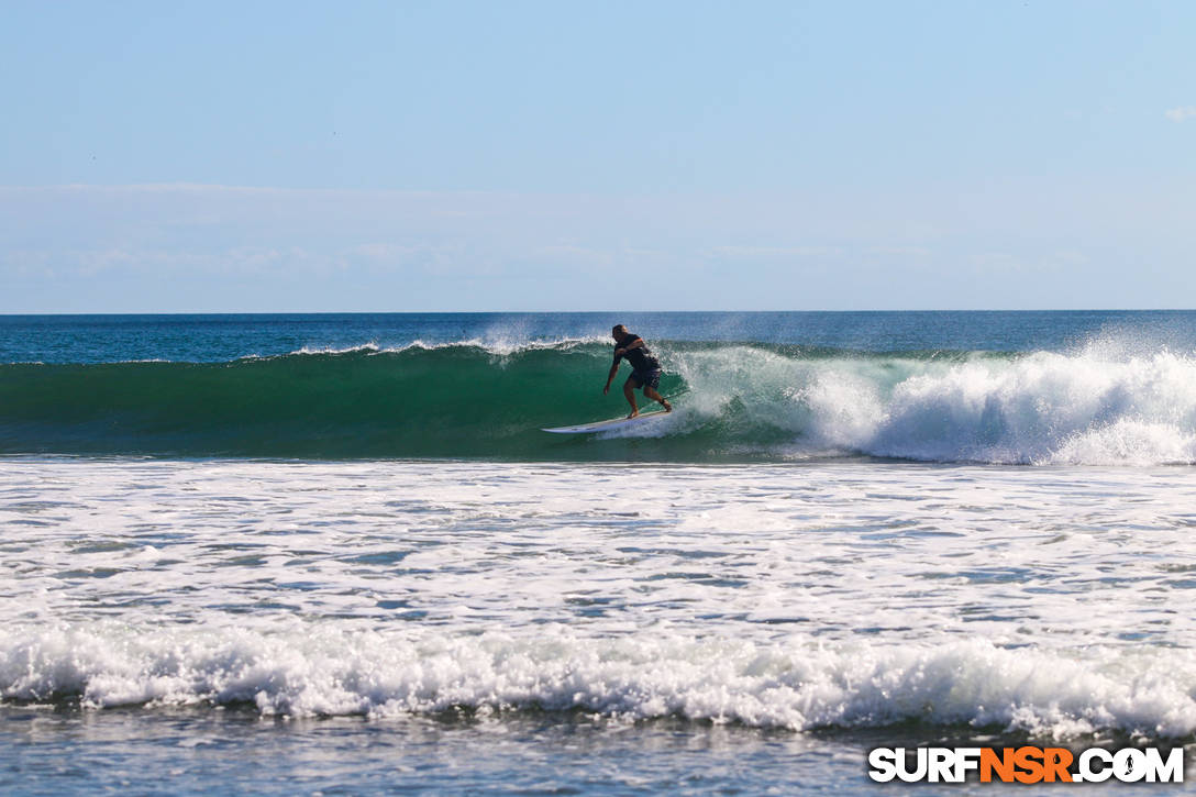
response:
<path id="1" fill-rule="evenodd" d="M 935 644 L 936 643 L 936 644 Z M 586 711 L 795 731 L 930 725 L 1051 738 L 1196 731 L 1191 651 L 926 645 L 757 645 L 670 634 L 535 639 L 329 628 L 10 628 L 5 700 L 84 706 L 251 704 L 263 714 L 373 718 L 450 710 Z"/>

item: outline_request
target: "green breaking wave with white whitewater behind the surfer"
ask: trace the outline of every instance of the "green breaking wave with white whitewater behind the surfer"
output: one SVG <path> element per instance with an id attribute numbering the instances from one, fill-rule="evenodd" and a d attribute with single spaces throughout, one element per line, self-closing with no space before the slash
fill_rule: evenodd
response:
<path id="1" fill-rule="evenodd" d="M 892 457 L 1000 464 L 1196 462 L 1196 359 L 1166 349 L 862 353 L 663 343 L 677 412 L 618 416 L 594 341 L 294 352 L 228 363 L 0 366 L 0 452 L 665 462 Z M 645 403 L 640 397 L 641 406 Z"/>

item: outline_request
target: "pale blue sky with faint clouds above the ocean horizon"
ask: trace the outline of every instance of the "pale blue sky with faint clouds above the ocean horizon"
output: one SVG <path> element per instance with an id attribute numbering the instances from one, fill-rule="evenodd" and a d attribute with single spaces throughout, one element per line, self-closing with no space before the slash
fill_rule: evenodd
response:
<path id="1" fill-rule="evenodd" d="M 1196 308 L 1192 2 L 0 18 L 0 312 Z"/>

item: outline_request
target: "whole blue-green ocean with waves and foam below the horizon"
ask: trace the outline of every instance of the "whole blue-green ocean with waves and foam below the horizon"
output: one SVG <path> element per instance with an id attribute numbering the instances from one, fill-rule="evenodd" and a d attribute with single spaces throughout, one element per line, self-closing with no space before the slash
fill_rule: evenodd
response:
<path id="1" fill-rule="evenodd" d="M 1194 464 L 1192 311 L 0 316 L 0 791 L 1196 744 Z"/>

